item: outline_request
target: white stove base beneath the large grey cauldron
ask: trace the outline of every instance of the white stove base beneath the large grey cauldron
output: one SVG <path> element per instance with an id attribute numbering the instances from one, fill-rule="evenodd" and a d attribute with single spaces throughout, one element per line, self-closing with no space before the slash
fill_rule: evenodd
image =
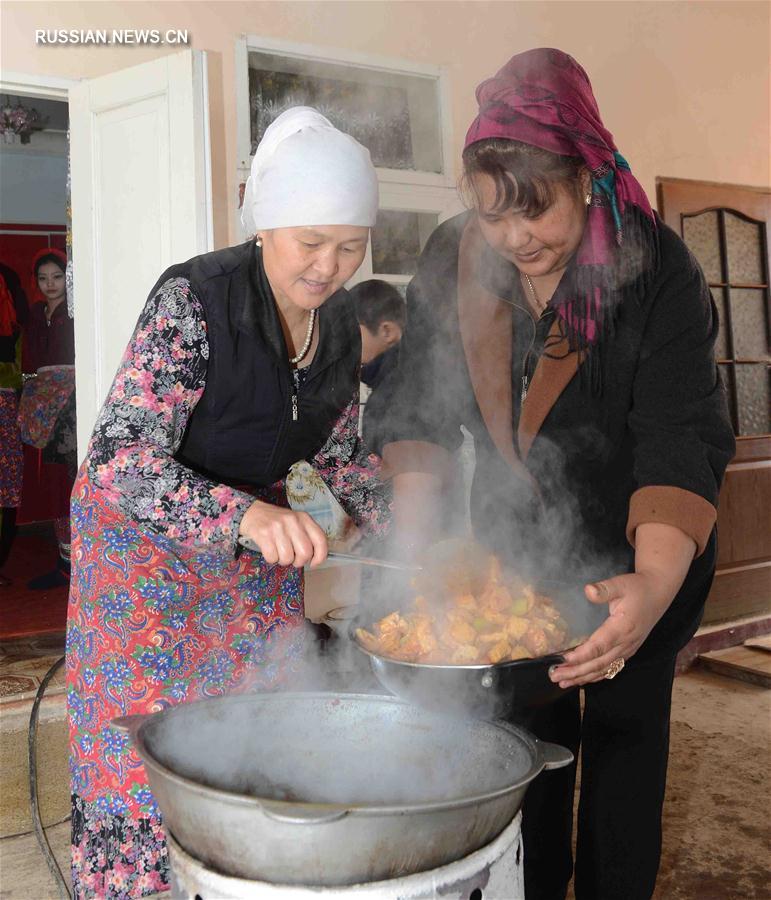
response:
<path id="1" fill-rule="evenodd" d="M 522 813 L 486 847 L 438 869 L 404 878 L 312 887 L 231 878 L 207 869 L 168 836 L 173 900 L 524 900 Z"/>

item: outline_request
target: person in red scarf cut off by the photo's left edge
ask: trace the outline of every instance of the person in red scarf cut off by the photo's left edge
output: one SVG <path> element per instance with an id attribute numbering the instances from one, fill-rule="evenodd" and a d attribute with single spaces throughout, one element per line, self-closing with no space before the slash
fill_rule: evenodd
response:
<path id="1" fill-rule="evenodd" d="M 23 455 L 19 425 L 21 330 L 27 319 L 27 295 L 16 272 L 0 263 L 0 569 L 16 535 L 21 505 Z M 0 587 L 10 579 L 0 575 Z"/>

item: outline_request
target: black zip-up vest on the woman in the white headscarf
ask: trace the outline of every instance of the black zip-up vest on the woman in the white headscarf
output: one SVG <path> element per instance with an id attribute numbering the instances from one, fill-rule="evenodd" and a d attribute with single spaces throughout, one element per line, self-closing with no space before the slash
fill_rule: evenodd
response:
<path id="1" fill-rule="evenodd" d="M 273 484 L 321 449 L 358 391 L 361 334 L 353 304 L 341 289 L 320 308 L 318 349 L 297 390 L 253 241 L 172 266 L 152 293 L 180 277 L 204 308 L 209 360 L 176 458 L 224 484 Z"/>

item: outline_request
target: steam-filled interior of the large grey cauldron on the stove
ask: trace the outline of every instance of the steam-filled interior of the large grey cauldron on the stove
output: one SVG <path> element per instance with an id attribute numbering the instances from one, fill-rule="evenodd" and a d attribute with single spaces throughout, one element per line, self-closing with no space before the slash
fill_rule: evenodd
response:
<path id="1" fill-rule="evenodd" d="M 377 697 L 263 695 L 186 705 L 153 721 L 146 739 L 178 774 L 288 802 L 437 803 L 534 774 L 530 748 L 508 731 Z"/>

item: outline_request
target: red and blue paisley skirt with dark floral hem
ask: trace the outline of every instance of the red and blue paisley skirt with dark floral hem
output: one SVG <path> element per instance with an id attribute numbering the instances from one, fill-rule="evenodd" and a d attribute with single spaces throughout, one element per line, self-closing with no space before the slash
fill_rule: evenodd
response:
<path id="1" fill-rule="evenodd" d="M 75 897 L 168 881 L 163 827 L 115 716 L 277 684 L 303 643 L 302 573 L 142 531 L 81 472 L 72 494 L 67 703 Z"/>

